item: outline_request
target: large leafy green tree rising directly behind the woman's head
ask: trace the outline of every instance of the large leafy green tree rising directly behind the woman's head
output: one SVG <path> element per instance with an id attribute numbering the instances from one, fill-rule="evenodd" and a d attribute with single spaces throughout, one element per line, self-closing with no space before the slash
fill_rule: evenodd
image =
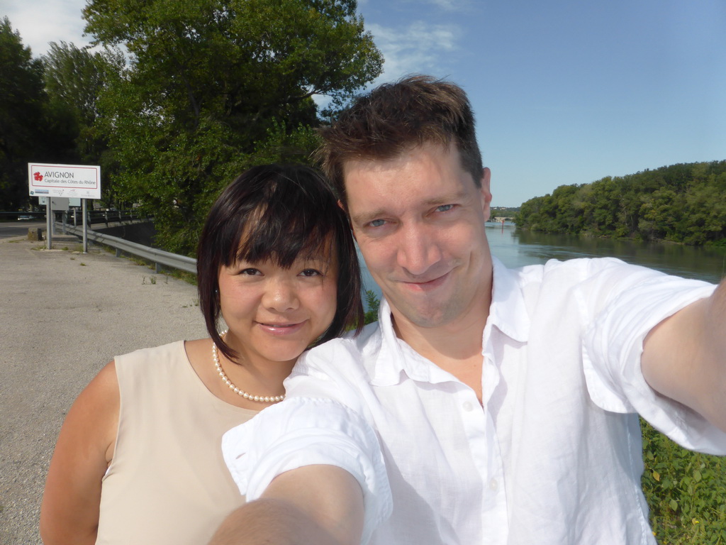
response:
<path id="1" fill-rule="evenodd" d="M 314 94 L 338 105 L 380 73 L 354 0 L 91 0 L 97 43 L 129 63 L 99 102 L 127 198 L 190 252 L 219 188 L 253 163 L 306 158 Z"/>

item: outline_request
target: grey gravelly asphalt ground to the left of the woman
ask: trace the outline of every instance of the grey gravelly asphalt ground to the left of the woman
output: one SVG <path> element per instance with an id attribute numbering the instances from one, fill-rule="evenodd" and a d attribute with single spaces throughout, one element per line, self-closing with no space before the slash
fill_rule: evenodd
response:
<path id="1" fill-rule="evenodd" d="M 115 355 L 206 333 L 195 286 L 93 246 L 81 254 L 72 237 L 47 250 L 28 225 L 22 237 L 2 227 L 0 544 L 40 544 L 46 471 L 78 392 Z"/>

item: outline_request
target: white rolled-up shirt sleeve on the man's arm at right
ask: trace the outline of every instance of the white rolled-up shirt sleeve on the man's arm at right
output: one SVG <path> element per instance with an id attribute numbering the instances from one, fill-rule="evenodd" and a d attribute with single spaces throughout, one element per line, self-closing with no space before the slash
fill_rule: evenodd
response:
<path id="1" fill-rule="evenodd" d="M 637 412 L 680 445 L 726 453 L 726 434 L 685 405 L 650 388 L 641 371 L 643 343 L 651 329 L 688 304 L 708 297 L 715 286 L 657 275 L 616 294 L 584 334 L 584 374 L 600 408 Z"/>

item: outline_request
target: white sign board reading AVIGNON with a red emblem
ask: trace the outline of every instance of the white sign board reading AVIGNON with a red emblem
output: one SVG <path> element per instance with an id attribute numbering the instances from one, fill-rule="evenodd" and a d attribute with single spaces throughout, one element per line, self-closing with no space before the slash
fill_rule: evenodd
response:
<path id="1" fill-rule="evenodd" d="M 28 190 L 36 197 L 101 198 L 101 167 L 28 163 Z"/>

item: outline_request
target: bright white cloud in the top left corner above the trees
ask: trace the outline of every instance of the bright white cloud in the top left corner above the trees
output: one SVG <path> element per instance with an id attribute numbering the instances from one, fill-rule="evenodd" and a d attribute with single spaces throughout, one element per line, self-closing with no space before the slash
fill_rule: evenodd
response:
<path id="1" fill-rule="evenodd" d="M 78 47 L 89 44 L 89 36 L 83 37 L 86 22 L 81 10 L 85 5 L 85 0 L 1 0 L 0 12 L 20 32 L 33 57 L 39 57 L 48 51 L 51 41 L 73 42 Z"/>

